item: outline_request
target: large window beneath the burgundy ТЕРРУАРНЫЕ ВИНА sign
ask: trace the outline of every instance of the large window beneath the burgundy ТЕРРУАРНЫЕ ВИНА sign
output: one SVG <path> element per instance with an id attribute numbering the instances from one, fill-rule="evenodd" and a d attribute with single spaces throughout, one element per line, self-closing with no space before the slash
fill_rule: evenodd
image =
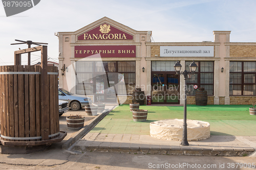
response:
<path id="1" fill-rule="evenodd" d="M 77 61 L 76 93 L 103 93 L 105 88 L 112 88 L 113 85 L 123 82 L 115 86 L 117 93 L 132 94 L 136 81 L 135 71 L 135 61 Z M 99 79 L 100 76 L 103 78 Z M 104 79 L 108 86 L 104 85 Z"/>

